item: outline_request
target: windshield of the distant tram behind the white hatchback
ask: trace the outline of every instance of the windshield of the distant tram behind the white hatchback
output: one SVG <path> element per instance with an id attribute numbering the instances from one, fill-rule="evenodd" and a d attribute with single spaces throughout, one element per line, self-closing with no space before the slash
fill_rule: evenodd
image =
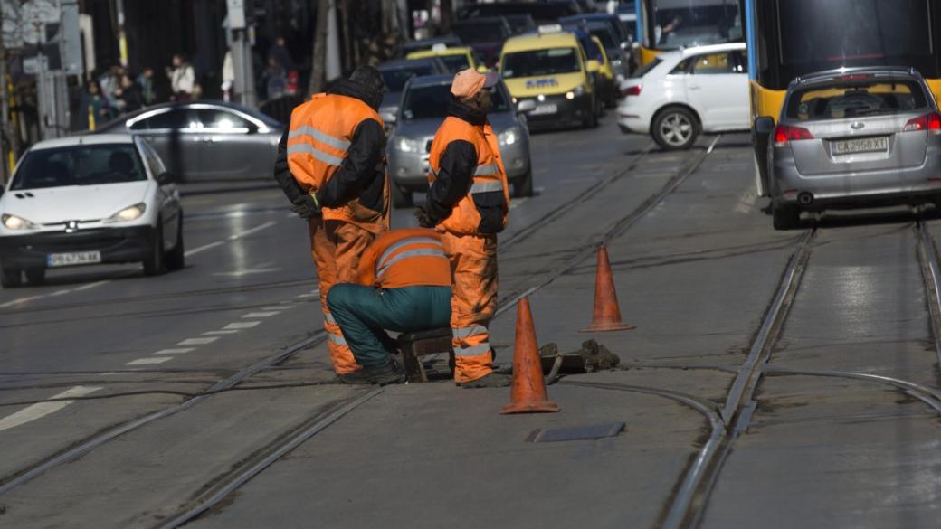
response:
<path id="1" fill-rule="evenodd" d="M 656 48 L 675 50 L 742 39 L 739 0 L 654 0 Z"/>

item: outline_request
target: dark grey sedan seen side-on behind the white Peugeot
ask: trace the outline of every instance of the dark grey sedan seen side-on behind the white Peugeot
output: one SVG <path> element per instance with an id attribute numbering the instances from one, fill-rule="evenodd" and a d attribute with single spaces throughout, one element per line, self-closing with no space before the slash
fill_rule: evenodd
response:
<path id="1" fill-rule="evenodd" d="M 158 104 L 97 133 L 131 133 L 156 151 L 182 182 L 268 179 L 284 125 L 222 101 Z"/>

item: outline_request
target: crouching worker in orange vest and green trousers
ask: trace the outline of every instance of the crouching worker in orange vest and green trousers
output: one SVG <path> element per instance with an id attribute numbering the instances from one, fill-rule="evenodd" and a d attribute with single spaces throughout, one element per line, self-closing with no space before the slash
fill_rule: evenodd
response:
<path id="1" fill-rule="evenodd" d="M 327 306 L 362 369 L 348 384 L 395 384 L 406 376 L 391 359 L 385 329 L 447 328 L 451 321 L 451 264 L 434 230 L 386 232 L 359 260 L 357 284 L 333 285 Z"/>

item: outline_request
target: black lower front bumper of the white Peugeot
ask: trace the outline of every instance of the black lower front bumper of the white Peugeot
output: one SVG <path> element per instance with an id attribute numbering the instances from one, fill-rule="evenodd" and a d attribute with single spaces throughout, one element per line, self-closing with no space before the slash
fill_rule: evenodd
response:
<path id="1" fill-rule="evenodd" d="M 42 232 L 0 237 L 0 264 L 4 268 L 46 268 L 51 253 L 100 251 L 102 263 L 131 263 L 150 257 L 151 226 L 99 228 L 78 232 Z"/>

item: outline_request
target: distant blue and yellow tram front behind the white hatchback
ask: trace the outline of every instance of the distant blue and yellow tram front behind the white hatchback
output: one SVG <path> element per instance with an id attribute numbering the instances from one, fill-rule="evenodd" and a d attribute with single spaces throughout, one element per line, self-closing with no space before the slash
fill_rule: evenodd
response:
<path id="1" fill-rule="evenodd" d="M 742 40 L 742 0 L 634 0 L 638 62 L 662 51 Z"/>

